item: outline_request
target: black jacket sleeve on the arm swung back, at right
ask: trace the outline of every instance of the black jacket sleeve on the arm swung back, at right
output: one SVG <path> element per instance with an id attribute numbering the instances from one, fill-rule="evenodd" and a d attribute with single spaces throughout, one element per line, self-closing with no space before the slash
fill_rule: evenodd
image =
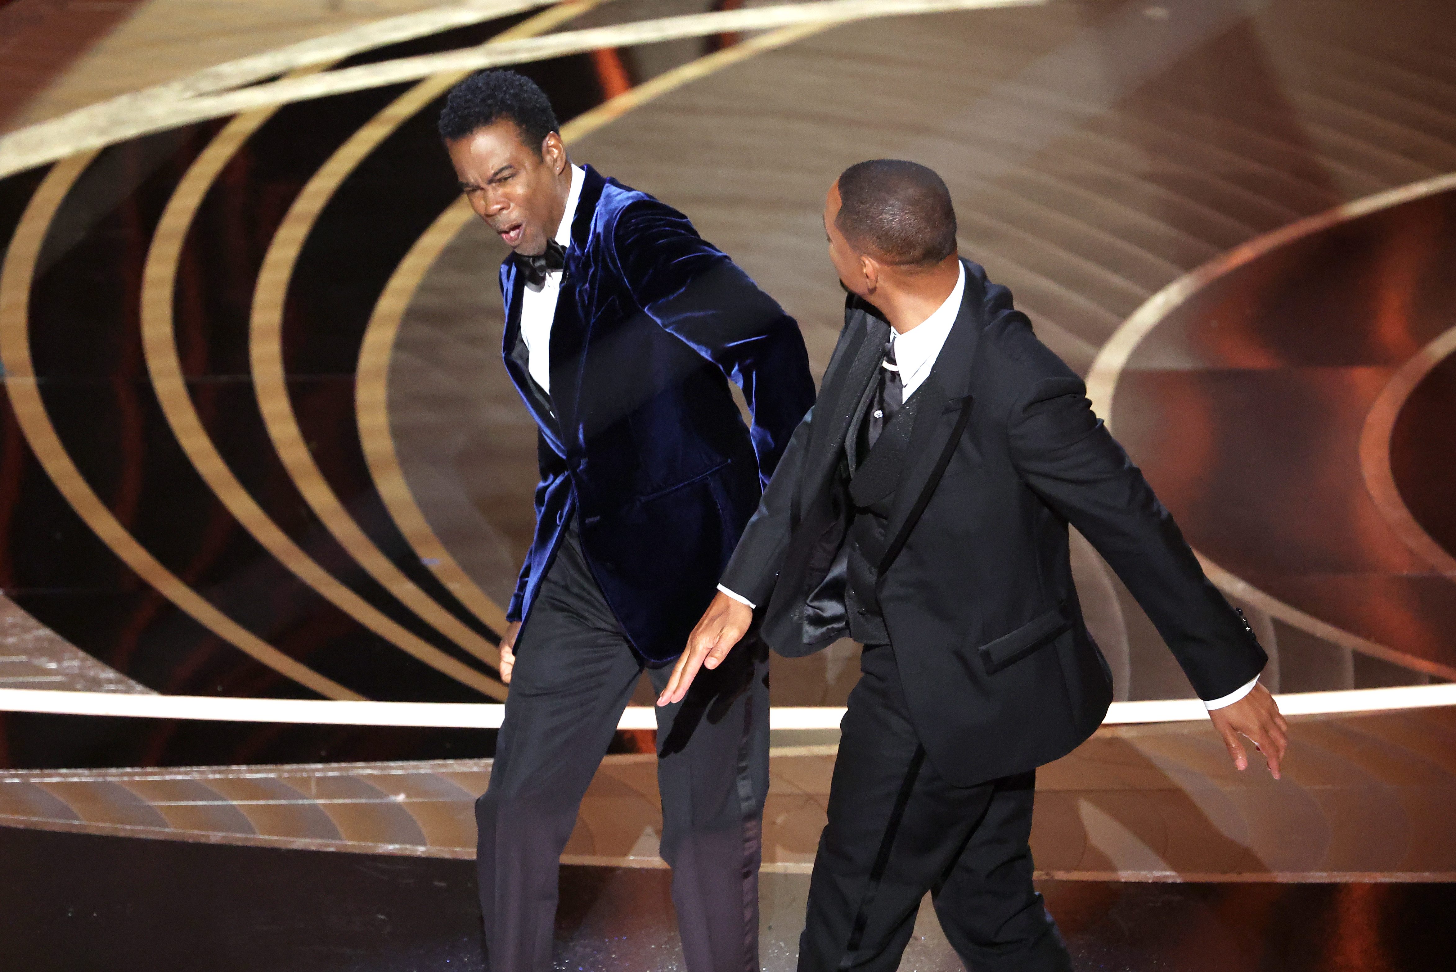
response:
<path id="1" fill-rule="evenodd" d="M 1061 375 L 1035 380 L 1010 409 L 1012 462 L 1123 579 L 1198 697 L 1227 695 L 1262 670 L 1264 650 L 1092 412 L 1082 380 L 1056 364 Z"/>

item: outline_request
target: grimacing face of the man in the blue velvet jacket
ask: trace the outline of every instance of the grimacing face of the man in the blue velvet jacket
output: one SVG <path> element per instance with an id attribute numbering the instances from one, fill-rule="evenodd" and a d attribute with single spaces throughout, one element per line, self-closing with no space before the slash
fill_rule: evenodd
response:
<path id="1" fill-rule="evenodd" d="M 539 146 L 521 141 L 515 122 L 502 118 L 446 143 L 460 191 L 476 216 L 517 254 L 546 252 L 566 211 L 566 147 L 556 133 Z M 569 184 L 568 184 L 569 188 Z"/>

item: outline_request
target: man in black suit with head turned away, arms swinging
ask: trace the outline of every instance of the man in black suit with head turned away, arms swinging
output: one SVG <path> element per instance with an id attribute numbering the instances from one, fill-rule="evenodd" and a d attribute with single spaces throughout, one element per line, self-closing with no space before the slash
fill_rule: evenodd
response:
<path id="1" fill-rule="evenodd" d="M 1278 777 L 1265 654 L 1010 291 L 957 256 L 929 169 L 849 168 L 824 208 L 850 293 L 810 417 L 660 698 L 763 606 L 786 656 L 863 643 L 810 886 L 801 971 L 900 963 L 929 890 L 977 972 L 1067 969 L 1032 887 L 1035 768 L 1102 721 L 1112 679 L 1072 583 L 1076 526 L 1158 625 L 1239 769 Z"/>

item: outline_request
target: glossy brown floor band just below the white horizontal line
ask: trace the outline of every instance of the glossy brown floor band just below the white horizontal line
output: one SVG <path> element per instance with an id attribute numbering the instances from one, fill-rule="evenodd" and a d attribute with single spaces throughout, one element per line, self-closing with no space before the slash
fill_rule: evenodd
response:
<path id="1" fill-rule="evenodd" d="M 772 749 L 764 870 L 810 870 L 834 734 Z M 1456 882 L 1456 710 L 1296 718 L 1293 737 L 1275 781 L 1259 768 L 1235 771 L 1206 723 L 1101 729 L 1037 774 L 1038 871 L 1082 880 Z M 488 759 L 0 772 L 0 825 L 472 857 L 473 803 L 489 774 Z M 661 829 L 655 756 L 609 755 L 562 860 L 661 869 Z"/>

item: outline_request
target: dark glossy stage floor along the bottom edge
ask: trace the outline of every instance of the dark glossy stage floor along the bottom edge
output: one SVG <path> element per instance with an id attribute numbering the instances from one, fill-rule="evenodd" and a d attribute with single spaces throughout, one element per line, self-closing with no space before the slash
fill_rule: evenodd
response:
<path id="1" fill-rule="evenodd" d="M 0 968 L 482 969 L 475 866 L 0 828 Z M 764 874 L 763 962 L 792 968 L 808 877 Z M 1079 969 L 1395 972 L 1456 962 L 1456 886 L 1044 882 Z M 681 968 L 667 871 L 563 867 L 558 969 Z M 961 965 L 923 909 L 901 969 Z"/>

